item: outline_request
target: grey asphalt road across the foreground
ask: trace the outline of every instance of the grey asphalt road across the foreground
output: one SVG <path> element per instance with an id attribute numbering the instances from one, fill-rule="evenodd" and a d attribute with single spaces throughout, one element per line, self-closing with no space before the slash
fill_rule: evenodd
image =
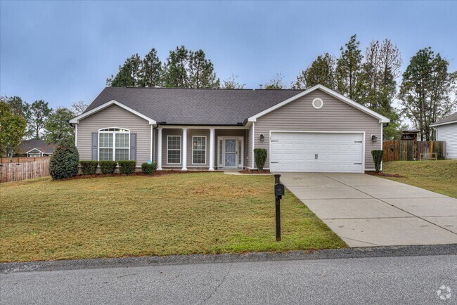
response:
<path id="1" fill-rule="evenodd" d="M 442 285 L 439 299 L 437 291 Z M 446 294 L 449 299 L 446 299 Z M 18 272 L 1 304 L 457 304 L 457 256 Z"/>

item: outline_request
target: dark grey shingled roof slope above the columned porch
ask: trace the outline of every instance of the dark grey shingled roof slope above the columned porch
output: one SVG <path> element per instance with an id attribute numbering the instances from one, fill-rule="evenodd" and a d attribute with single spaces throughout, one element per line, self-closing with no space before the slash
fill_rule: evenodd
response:
<path id="1" fill-rule="evenodd" d="M 302 90 L 107 87 L 86 112 L 117 100 L 156 122 L 236 125 Z"/>

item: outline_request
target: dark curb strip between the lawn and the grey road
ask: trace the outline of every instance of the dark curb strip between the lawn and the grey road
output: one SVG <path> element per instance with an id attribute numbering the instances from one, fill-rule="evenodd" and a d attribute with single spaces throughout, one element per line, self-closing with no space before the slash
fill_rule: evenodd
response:
<path id="1" fill-rule="evenodd" d="M 292 261 L 309 259 L 359 259 L 366 257 L 409 257 L 457 254 L 457 244 L 354 247 L 290 252 L 249 252 L 230 254 L 191 254 L 166 257 L 120 257 L 113 259 L 74 259 L 62 261 L 27 261 L 1 263 L 0 274 L 65 271 L 96 268 L 161 266 L 179 264 L 217 264 L 253 261 Z"/>

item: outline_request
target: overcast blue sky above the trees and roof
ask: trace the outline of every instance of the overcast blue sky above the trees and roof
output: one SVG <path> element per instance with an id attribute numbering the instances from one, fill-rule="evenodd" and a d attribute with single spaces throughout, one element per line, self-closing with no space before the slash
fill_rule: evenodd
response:
<path id="1" fill-rule="evenodd" d="M 364 48 L 391 39 L 406 67 L 432 48 L 457 70 L 457 2 L 1 1 L 0 94 L 51 107 L 90 103 L 133 53 L 202 48 L 217 76 L 258 88 L 290 84 L 316 56 L 339 55 L 352 34 Z"/>

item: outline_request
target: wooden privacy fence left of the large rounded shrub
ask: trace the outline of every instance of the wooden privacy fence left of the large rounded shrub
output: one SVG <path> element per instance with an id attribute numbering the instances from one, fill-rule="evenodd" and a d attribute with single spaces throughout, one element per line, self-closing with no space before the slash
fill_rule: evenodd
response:
<path id="1" fill-rule="evenodd" d="M 48 167 L 51 157 L 37 157 L 27 159 L 34 160 L 27 162 L 0 163 L 0 183 L 49 176 Z"/>

